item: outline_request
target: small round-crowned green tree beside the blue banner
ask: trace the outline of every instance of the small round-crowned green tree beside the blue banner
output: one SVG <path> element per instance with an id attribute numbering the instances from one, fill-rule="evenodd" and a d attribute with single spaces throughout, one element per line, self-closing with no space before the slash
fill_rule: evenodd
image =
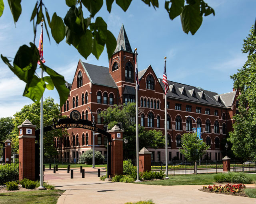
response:
<path id="1" fill-rule="evenodd" d="M 181 137 L 181 145 L 182 149 L 179 151 L 189 161 L 200 159 L 206 153 L 206 150 L 210 148 L 197 136 L 197 133 L 185 133 Z"/>

